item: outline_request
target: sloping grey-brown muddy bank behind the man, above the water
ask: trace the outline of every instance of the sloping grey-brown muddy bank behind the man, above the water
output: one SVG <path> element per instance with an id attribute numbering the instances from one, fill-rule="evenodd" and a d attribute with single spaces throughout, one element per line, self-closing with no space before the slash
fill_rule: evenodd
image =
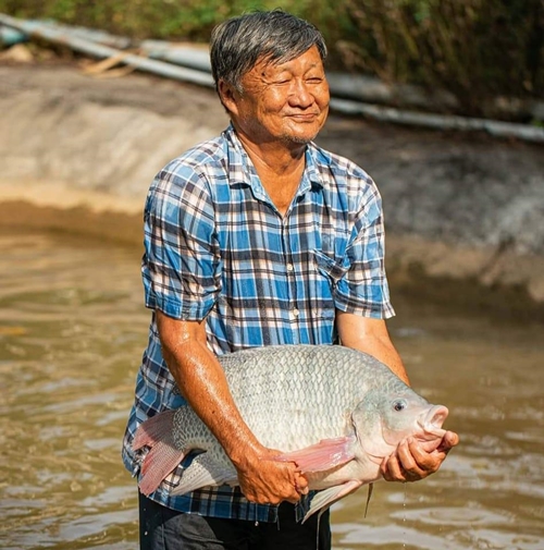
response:
<path id="1" fill-rule="evenodd" d="M 0 225 L 139 245 L 158 169 L 227 123 L 209 89 L 0 66 Z M 332 115 L 320 145 L 378 182 L 393 292 L 544 320 L 543 147 Z"/>

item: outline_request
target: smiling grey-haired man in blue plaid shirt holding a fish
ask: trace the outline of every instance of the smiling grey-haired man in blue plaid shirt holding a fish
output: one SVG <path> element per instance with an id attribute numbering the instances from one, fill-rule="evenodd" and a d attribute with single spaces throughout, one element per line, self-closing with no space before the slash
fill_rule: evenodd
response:
<path id="1" fill-rule="evenodd" d="M 137 473 L 137 426 L 186 400 L 224 447 L 239 489 L 173 497 L 178 468 L 140 494 L 143 549 L 310 549 L 318 534 L 319 548 L 331 547 L 326 514 L 297 522 L 307 480 L 295 464 L 267 460 L 277 451 L 244 423 L 217 355 L 339 340 L 408 381 L 384 321 L 393 309 L 379 193 L 359 167 L 312 143 L 327 115 L 325 56 L 320 33 L 282 11 L 219 25 L 212 71 L 232 124 L 150 188 L 143 276 L 153 316 L 124 462 Z M 421 479 L 456 443 L 452 432 L 433 453 L 405 443 L 384 460 L 384 477 Z"/>

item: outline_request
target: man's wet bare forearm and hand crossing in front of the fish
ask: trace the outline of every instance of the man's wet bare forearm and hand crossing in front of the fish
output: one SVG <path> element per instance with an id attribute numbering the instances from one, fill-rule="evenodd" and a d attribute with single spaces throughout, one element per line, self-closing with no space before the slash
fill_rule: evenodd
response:
<path id="1" fill-rule="evenodd" d="M 245 497 L 262 504 L 298 501 L 307 490 L 306 479 L 295 464 L 268 460 L 277 451 L 261 445 L 242 418 L 223 369 L 207 346 L 205 321 L 156 315 L 164 360 L 182 395 L 236 467 Z"/>

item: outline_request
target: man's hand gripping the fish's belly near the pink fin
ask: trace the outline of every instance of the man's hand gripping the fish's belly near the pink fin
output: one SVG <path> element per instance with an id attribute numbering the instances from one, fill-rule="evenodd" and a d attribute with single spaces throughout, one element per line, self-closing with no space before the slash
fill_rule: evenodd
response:
<path id="1" fill-rule="evenodd" d="M 296 503 L 308 493 L 308 480 L 293 462 L 274 460 L 280 451 L 262 448 L 258 453 L 247 452 L 236 461 L 242 492 L 258 504 Z"/>

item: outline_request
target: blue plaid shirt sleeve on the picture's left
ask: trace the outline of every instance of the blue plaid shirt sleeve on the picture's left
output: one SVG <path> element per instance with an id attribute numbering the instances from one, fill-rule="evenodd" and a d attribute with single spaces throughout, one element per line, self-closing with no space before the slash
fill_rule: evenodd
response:
<path id="1" fill-rule="evenodd" d="M 220 252 L 208 183 L 174 160 L 156 176 L 144 213 L 146 306 L 202 320 L 220 290 Z"/>

